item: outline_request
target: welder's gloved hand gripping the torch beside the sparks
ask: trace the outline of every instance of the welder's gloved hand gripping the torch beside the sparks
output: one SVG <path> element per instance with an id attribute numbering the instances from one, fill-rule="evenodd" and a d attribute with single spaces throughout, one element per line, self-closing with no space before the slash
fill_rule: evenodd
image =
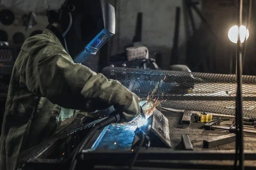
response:
<path id="1" fill-rule="evenodd" d="M 131 122 L 133 121 L 141 112 L 139 98 L 133 93 L 131 105 L 127 109 L 123 109 L 121 106 L 114 106 L 116 111 L 121 113 L 120 122 Z"/>

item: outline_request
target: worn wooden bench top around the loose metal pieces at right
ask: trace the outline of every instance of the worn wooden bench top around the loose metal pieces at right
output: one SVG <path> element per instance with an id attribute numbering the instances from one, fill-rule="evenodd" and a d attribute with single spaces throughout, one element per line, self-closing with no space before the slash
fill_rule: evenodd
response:
<path id="1" fill-rule="evenodd" d="M 205 130 L 205 123 L 197 123 L 195 122 L 195 114 L 191 117 L 190 125 L 180 125 L 180 121 L 182 119 L 183 113 L 174 113 L 171 111 L 161 111 L 169 120 L 170 127 L 170 139 L 172 142 L 172 146 L 175 150 L 182 150 L 183 146 L 181 143 L 181 135 L 187 134 L 189 135 L 190 141 L 194 147 L 194 150 L 235 150 L 235 142 L 229 144 L 223 144 L 217 147 L 211 148 L 202 148 L 204 139 L 212 139 L 216 136 L 224 136 L 230 134 L 227 130 Z M 196 112 L 193 112 L 196 113 Z M 213 117 L 221 117 L 223 119 L 229 119 L 227 121 L 221 122 L 221 126 L 230 127 L 233 123 L 233 116 L 226 115 L 215 115 Z M 254 128 L 250 128 L 248 126 L 244 126 L 244 128 L 254 130 Z M 254 150 L 256 151 L 256 135 L 250 135 L 244 133 L 244 150 Z M 177 161 L 174 161 L 177 162 Z M 179 161 L 183 162 L 183 161 Z M 233 165 L 233 161 L 191 161 L 193 164 L 226 164 Z M 256 166 L 256 161 L 245 161 L 246 166 Z"/>

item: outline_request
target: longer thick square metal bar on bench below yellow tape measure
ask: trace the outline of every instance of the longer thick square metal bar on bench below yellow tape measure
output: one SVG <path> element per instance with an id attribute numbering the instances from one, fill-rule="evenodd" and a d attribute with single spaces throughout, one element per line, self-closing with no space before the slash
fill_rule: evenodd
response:
<path id="1" fill-rule="evenodd" d="M 218 136 L 213 139 L 204 140 L 203 147 L 210 148 L 210 147 L 219 146 L 221 144 L 228 144 L 228 143 L 235 142 L 235 141 L 236 141 L 236 134 Z"/>

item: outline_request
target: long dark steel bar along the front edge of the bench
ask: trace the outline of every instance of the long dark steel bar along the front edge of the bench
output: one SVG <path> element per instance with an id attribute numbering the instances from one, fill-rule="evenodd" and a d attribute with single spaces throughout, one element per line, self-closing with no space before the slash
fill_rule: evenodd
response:
<path id="1" fill-rule="evenodd" d="M 105 160 L 128 160 L 132 159 L 134 153 L 122 150 L 83 150 L 80 158 L 105 159 Z M 245 151 L 246 160 L 256 160 L 256 152 Z M 141 149 L 137 160 L 234 160 L 235 151 L 230 150 L 207 150 L 207 151 L 188 151 L 188 150 L 145 150 Z"/>

